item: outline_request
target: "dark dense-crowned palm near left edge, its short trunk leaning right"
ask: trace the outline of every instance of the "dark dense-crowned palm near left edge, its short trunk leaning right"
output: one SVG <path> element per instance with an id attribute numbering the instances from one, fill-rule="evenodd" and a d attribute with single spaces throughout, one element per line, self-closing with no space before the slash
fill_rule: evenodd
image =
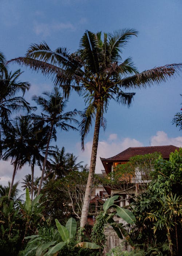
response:
<path id="1" fill-rule="evenodd" d="M 7 123 L 2 122 L 3 127 L 3 156 L 2 159 L 8 161 L 11 159 L 11 164 L 14 166 L 12 181 L 8 193 L 10 198 L 13 188 L 15 174 L 18 169 L 28 162 L 29 147 L 28 140 L 31 133 L 32 124 L 29 117 L 17 117 L 15 120 Z"/>

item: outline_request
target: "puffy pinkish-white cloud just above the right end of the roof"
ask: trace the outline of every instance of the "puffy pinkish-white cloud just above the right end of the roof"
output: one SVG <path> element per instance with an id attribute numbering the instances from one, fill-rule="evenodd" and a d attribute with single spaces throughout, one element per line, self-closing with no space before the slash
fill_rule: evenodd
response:
<path id="1" fill-rule="evenodd" d="M 182 136 L 176 138 L 169 138 L 167 133 L 158 131 L 157 135 L 151 137 L 151 146 L 160 145 L 173 145 L 176 147 L 182 147 Z"/>

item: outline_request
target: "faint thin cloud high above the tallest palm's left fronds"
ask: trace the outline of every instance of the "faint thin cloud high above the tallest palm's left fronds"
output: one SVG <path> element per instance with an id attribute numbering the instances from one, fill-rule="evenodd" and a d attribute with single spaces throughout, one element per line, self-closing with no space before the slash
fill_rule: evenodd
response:
<path id="1" fill-rule="evenodd" d="M 43 35 L 44 37 L 47 37 L 51 35 L 52 31 L 61 31 L 64 29 L 70 29 L 75 30 L 74 25 L 72 25 L 70 22 L 60 22 L 60 23 L 39 23 L 35 24 L 33 27 L 33 30 L 35 31 L 36 35 Z"/>

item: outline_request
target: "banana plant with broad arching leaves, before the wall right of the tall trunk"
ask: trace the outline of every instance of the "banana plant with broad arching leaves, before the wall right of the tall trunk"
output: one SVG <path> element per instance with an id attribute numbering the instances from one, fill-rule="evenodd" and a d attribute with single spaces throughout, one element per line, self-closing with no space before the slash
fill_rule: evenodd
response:
<path id="1" fill-rule="evenodd" d="M 106 200 L 106 202 L 103 204 L 103 216 L 106 219 L 106 221 L 113 227 L 113 229 L 115 230 L 118 237 L 120 239 L 123 239 L 123 236 L 124 236 L 125 239 L 128 241 L 128 243 L 132 247 L 134 247 L 134 244 L 133 244 L 129 234 L 127 233 L 126 229 L 124 229 L 124 227 L 123 227 L 123 223 L 116 223 L 114 221 L 114 219 L 112 217 L 115 214 L 107 214 L 108 208 L 114 207 L 114 208 L 116 208 L 116 214 L 120 218 L 122 218 L 124 221 L 126 221 L 127 223 L 129 223 L 131 225 L 135 224 L 136 218 L 133 215 L 132 211 L 114 204 L 114 201 L 117 200 L 118 197 L 119 196 L 112 196 Z"/>

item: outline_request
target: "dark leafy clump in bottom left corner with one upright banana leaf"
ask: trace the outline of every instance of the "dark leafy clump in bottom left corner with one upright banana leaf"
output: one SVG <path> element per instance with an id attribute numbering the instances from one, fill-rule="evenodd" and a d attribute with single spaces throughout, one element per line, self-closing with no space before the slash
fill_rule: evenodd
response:
<path id="1" fill-rule="evenodd" d="M 7 196 L 0 197 L 0 253 L 1 255 L 17 255 L 24 246 L 24 237 L 35 234 L 37 225 L 43 221 L 39 197 L 33 202 L 26 188 L 26 200 L 8 200 Z"/>

